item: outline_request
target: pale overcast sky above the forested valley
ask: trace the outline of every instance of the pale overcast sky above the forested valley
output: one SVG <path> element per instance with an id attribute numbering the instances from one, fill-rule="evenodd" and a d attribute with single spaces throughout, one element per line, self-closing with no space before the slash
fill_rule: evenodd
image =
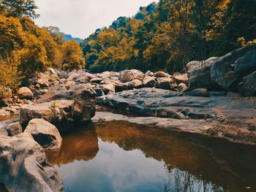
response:
<path id="1" fill-rule="evenodd" d="M 82 39 L 97 28 L 110 26 L 119 16 L 132 16 L 140 6 L 154 0 L 35 0 L 35 22 L 39 26 L 57 26 L 65 34 Z"/>

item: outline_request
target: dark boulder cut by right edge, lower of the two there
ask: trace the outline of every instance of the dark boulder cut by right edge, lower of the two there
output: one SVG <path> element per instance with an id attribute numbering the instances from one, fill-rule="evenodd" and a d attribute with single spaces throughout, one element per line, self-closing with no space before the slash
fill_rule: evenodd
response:
<path id="1" fill-rule="evenodd" d="M 256 72 L 244 77 L 238 89 L 244 96 L 256 96 Z"/>

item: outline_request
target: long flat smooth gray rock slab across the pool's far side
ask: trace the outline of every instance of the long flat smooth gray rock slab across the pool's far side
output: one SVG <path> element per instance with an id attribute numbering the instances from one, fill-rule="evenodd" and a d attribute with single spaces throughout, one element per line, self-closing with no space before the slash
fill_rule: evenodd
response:
<path id="1" fill-rule="evenodd" d="M 202 119 L 213 114 L 225 118 L 256 117 L 256 98 L 248 102 L 239 96 L 181 95 L 157 88 L 141 88 L 98 97 L 97 104 L 161 118 Z M 241 109 L 246 110 L 241 112 Z"/>

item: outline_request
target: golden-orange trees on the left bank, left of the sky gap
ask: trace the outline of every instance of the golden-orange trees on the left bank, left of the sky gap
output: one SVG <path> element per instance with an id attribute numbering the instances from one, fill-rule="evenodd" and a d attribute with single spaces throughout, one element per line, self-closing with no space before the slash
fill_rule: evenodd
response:
<path id="1" fill-rule="evenodd" d="M 26 85 L 48 67 L 81 68 L 85 59 L 78 42 L 65 41 L 59 28 L 39 28 L 33 0 L 0 1 L 0 85 Z"/>

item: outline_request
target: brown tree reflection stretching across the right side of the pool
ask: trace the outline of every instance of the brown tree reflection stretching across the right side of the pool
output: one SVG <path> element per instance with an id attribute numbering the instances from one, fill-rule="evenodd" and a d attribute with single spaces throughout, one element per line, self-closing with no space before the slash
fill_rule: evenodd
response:
<path id="1" fill-rule="evenodd" d="M 165 161 L 170 171 L 187 172 L 176 173 L 176 191 L 179 186 L 181 191 L 189 191 L 188 184 L 195 182 L 202 191 L 219 191 L 211 183 L 229 191 L 244 191 L 244 185 L 256 188 L 256 147 L 121 121 L 95 126 L 103 141 L 115 142 L 124 150 L 141 150 L 147 158 Z M 180 177 L 183 183 L 178 183 Z"/>

